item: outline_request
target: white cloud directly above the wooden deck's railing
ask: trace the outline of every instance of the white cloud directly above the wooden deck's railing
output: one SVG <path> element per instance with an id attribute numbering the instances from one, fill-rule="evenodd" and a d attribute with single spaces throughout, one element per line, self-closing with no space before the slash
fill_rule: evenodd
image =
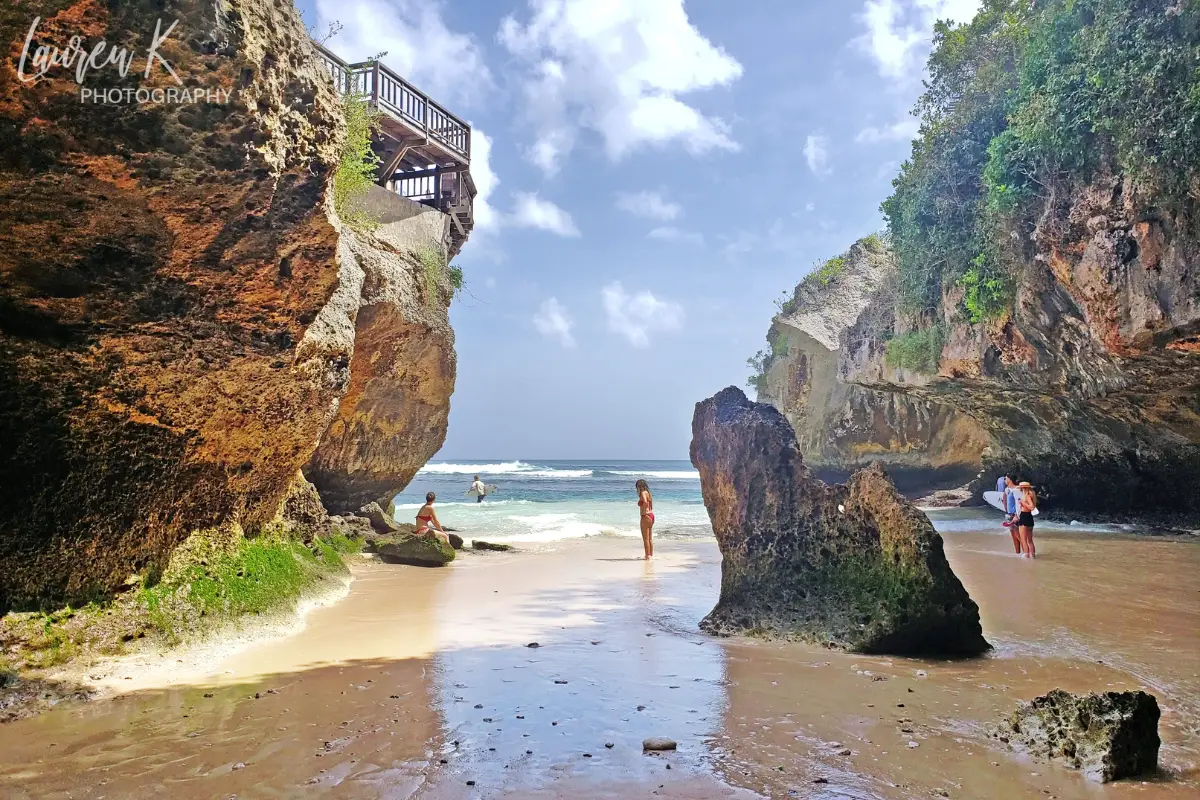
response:
<path id="1" fill-rule="evenodd" d="M 492 84 L 479 46 L 446 28 L 439 0 L 316 0 L 317 28 L 341 23 L 326 47 L 347 61 L 383 50 L 383 64 L 437 102 L 450 107 L 480 100 Z"/>

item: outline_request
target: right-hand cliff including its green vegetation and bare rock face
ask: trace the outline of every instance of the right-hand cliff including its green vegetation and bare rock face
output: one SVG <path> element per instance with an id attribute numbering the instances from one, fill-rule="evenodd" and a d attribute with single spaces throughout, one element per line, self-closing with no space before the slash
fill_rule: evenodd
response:
<path id="1" fill-rule="evenodd" d="M 1198 54 L 1187 2 L 938 25 L 841 378 L 968 414 L 1046 510 L 1200 516 Z"/>

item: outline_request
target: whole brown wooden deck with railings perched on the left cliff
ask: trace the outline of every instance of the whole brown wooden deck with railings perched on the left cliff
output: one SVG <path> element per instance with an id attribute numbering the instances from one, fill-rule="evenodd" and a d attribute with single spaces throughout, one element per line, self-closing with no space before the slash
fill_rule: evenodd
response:
<path id="1" fill-rule="evenodd" d="M 450 253 L 474 227 L 470 126 L 379 61 L 349 64 L 313 42 L 334 85 L 383 113 L 372 143 L 379 156 L 376 182 L 450 215 Z"/>

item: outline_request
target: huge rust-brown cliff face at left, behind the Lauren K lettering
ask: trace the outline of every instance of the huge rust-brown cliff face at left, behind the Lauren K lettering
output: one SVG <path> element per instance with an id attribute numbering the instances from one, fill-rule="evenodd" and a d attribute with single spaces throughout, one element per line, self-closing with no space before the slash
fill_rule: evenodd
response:
<path id="1" fill-rule="evenodd" d="M 412 417 L 421 446 L 397 487 L 444 435 L 448 293 L 421 312 L 436 321 L 360 319 L 391 302 L 379 263 L 418 267 L 332 211 L 340 101 L 292 4 L 170 4 L 160 55 L 227 102 L 82 103 L 74 70 L 17 79 L 40 16 L 32 48 L 137 54 L 83 86 L 176 89 L 157 65 L 143 76 L 162 13 L 0 10 L 0 609 L 108 593 L 192 530 L 266 524 L 364 368 L 426 363 L 426 336 L 442 355 L 424 402 L 443 408 Z"/>

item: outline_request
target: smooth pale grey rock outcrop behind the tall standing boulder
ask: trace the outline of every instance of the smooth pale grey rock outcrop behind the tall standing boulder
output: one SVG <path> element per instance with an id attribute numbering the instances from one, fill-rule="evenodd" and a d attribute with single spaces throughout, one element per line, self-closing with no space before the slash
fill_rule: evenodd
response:
<path id="1" fill-rule="evenodd" d="M 991 438 L 953 407 L 841 379 L 838 360 L 863 312 L 895 281 L 895 261 L 878 236 L 810 273 L 767 336 L 770 355 L 756 378 L 758 401 L 787 417 L 805 463 L 824 480 L 845 480 L 871 462 L 906 491 L 961 486 L 980 468 Z"/>

